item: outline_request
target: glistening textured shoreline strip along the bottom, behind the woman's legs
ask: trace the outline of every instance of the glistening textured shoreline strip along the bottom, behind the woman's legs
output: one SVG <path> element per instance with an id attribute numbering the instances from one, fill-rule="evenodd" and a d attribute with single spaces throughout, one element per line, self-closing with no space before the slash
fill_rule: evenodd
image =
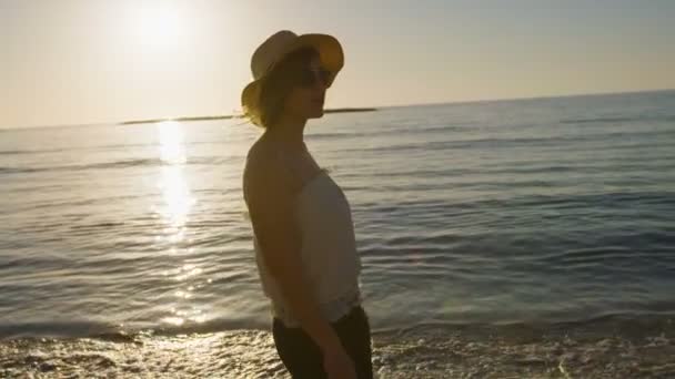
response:
<path id="1" fill-rule="evenodd" d="M 667 378 L 675 319 L 422 325 L 373 334 L 375 378 Z M 288 378 L 269 330 L 0 340 L 0 377 Z"/>

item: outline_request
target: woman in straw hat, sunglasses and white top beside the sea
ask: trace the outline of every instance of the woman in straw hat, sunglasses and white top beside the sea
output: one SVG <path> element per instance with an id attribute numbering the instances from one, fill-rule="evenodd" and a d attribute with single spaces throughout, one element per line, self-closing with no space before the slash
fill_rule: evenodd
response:
<path id="1" fill-rule="evenodd" d="M 243 188 L 276 351 L 293 378 L 372 378 L 349 203 L 303 142 L 343 65 L 338 40 L 281 31 L 253 53 L 242 106 L 264 130 Z"/>

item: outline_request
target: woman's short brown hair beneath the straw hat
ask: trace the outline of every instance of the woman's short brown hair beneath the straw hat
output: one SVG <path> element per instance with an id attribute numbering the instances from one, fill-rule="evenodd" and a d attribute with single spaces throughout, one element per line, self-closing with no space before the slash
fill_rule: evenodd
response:
<path id="1" fill-rule="evenodd" d="M 285 98 L 296 83 L 298 72 L 310 65 L 319 53 L 312 48 L 300 49 L 288 54 L 263 80 L 259 112 L 262 127 L 274 127 L 283 114 Z"/>

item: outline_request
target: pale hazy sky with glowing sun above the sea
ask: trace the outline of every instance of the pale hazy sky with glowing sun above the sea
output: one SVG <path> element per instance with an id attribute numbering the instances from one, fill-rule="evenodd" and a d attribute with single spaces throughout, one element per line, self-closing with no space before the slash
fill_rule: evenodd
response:
<path id="1" fill-rule="evenodd" d="M 328 107 L 675 89 L 672 0 L 0 0 L 0 129 L 230 114 L 270 34 L 335 35 Z"/>

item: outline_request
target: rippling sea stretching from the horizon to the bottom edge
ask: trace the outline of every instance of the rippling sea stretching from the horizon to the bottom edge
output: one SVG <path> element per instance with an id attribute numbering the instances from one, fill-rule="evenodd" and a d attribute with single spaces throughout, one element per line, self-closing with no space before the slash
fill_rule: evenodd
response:
<path id="1" fill-rule="evenodd" d="M 259 133 L 0 131 L 0 377 L 282 376 Z M 330 114 L 306 142 L 352 205 L 381 377 L 675 376 L 675 91 Z"/>

